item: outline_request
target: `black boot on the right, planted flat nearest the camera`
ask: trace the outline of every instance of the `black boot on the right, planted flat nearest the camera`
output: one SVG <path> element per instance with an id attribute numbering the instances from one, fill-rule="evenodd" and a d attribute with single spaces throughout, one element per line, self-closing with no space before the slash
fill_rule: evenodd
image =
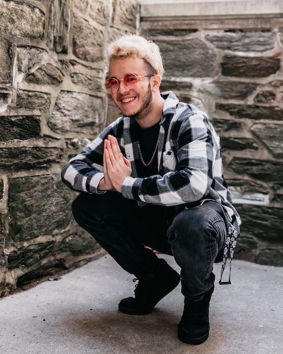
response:
<path id="1" fill-rule="evenodd" d="M 208 290 L 199 301 L 192 301 L 185 297 L 184 312 L 178 324 L 178 337 L 187 344 L 201 344 L 209 334 L 209 301 L 214 290 Z"/>

